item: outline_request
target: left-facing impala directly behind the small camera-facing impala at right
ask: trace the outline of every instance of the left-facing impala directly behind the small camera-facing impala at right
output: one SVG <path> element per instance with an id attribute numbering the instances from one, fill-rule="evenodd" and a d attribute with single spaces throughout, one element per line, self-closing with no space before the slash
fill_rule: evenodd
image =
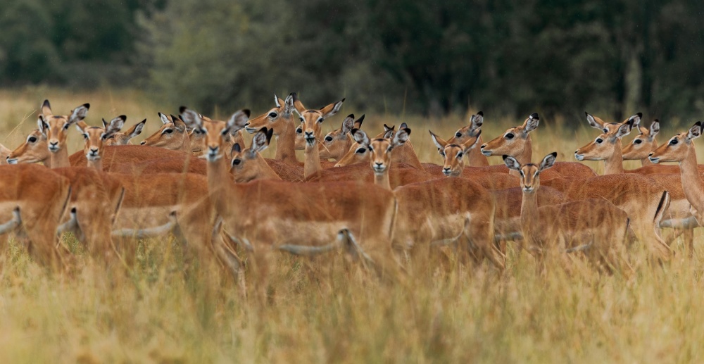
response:
<path id="1" fill-rule="evenodd" d="M 513 156 L 522 165 L 531 163 L 533 156 L 533 141 L 531 132 L 536 130 L 540 118 L 538 113 L 532 113 L 524 121 L 523 125 L 511 127 L 500 137 L 491 139 L 491 141 L 482 144 L 480 147 L 484 156 Z M 558 162 L 555 163 L 552 170 L 560 175 L 569 177 L 593 177 L 596 175 L 594 171 L 581 163 L 574 162 Z M 510 171 L 513 175 L 518 175 L 515 170 Z M 546 180 L 547 176 L 543 176 Z"/>

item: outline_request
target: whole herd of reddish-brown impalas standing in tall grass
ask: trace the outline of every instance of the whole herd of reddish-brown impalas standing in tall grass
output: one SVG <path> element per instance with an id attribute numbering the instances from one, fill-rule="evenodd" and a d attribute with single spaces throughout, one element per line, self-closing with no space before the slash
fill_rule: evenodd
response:
<path id="1" fill-rule="evenodd" d="M 646 128 L 640 113 L 622 123 L 586 113 L 601 134 L 574 156 L 604 161 L 605 175 L 596 175 L 581 163 L 556 162 L 557 153 L 532 163 L 536 113 L 488 142 L 482 112 L 449 139 L 431 131 L 444 158 L 435 165 L 420 162 L 406 123 L 371 137 L 364 115 L 348 115 L 323 134 L 344 99 L 320 109 L 296 94 L 274 101 L 256 118 L 249 110 L 227 120 L 186 107 L 158 113 L 161 128 L 140 145 L 131 141 L 146 120 L 122 132 L 125 115 L 91 126 L 89 104 L 55 115 L 44 101 L 37 130 L 12 151 L 0 148 L 8 164 L 0 166 L 0 233 L 54 269 L 70 256 L 59 243 L 64 232 L 94 258 L 128 265 L 138 239 L 172 234 L 188 258 L 215 258 L 233 273 L 246 256 L 261 280 L 280 253 L 341 251 L 399 277 L 429 268 L 431 254 L 448 246 L 468 264 L 503 270 L 505 241 L 532 254 L 539 269 L 548 256 L 582 254 L 598 270 L 623 271 L 634 241 L 654 261 L 672 257 L 661 228 L 681 230 L 691 254 L 693 228 L 704 218 L 704 170 L 694 148 L 700 122 L 658 146 L 658 120 Z M 639 134 L 624 146 L 634 128 Z M 75 130 L 84 149 L 70 154 L 66 140 Z M 249 145 L 244 131 L 253 134 Z M 272 137 L 275 158 L 263 158 Z M 504 164 L 489 165 L 488 156 Z M 624 170 L 627 159 L 643 167 Z"/>

